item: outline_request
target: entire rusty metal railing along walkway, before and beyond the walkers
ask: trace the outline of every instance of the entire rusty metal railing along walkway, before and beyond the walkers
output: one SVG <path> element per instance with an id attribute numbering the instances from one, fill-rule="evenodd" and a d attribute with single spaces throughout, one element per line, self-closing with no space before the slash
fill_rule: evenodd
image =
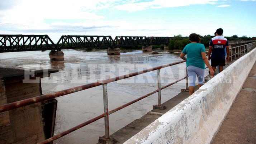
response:
<path id="1" fill-rule="evenodd" d="M 234 56 L 236 58 L 236 56 L 238 54 L 240 54 L 240 56 L 248 51 L 250 51 L 252 48 L 255 48 L 256 47 L 256 42 L 254 43 L 250 43 L 250 44 L 245 44 L 245 45 L 241 45 L 241 46 L 238 46 L 238 47 L 233 47 L 233 48 L 230 48 L 231 49 L 231 59 L 232 57 Z M 235 51 L 234 54 L 232 54 L 233 52 L 233 49 Z M 237 51 L 236 52 L 236 49 L 240 49 L 240 51 Z M 66 89 L 66 90 L 62 90 L 62 91 L 57 91 L 57 92 L 53 92 L 53 93 L 49 93 L 47 95 L 41 95 L 41 96 L 37 96 L 37 97 L 32 97 L 32 98 L 29 98 L 29 99 L 25 99 L 25 100 L 20 100 L 20 101 L 16 101 L 16 102 L 11 102 L 9 104 L 4 104 L 4 105 L 1 105 L 0 106 L 0 112 L 4 112 L 4 111 L 8 111 L 8 110 L 13 110 L 13 109 L 17 109 L 19 107 L 22 107 L 22 106 L 27 106 L 27 105 L 31 105 L 31 104 L 35 104 L 35 103 L 38 103 L 38 102 L 42 102 L 42 101 L 46 101 L 46 100 L 51 100 L 51 99 L 54 99 L 56 97 L 60 97 L 60 96 L 64 96 L 64 95 L 68 95 L 70 93 L 74 93 L 74 92 L 78 92 L 78 91 L 82 91 L 82 90 L 86 90 L 86 89 L 89 89 L 89 88 L 92 88 L 92 87 L 96 87 L 96 86 L 100 86 L 100 85 L 103 85 L 103 104 L 104 104 L 104 113 L 99 115 L 99 116 L 96 116 L 94 117 L 93 119 L 90 119 L 80 125 L 77 125 L 71 129 L 68 129 L 66 131 L 63 131 L 62 133 L 59 133 L 57 135 L 54 135 L 52 136 L 51 138 L 48 138 L 44 141 L 41 141 L 40 144 L 46 144 L 46 143 L 49 143 L 53 140 L 56 140 L 58 138 L 61 138 L 62 136 L 64 135 L 67 135 L 77 129 L 80 129 L 90 123 L 93 123 L 94 121 L 96 120 L 99 120 L 101 118 L 104 117 L 104 123 L 105 123 L 105 139 L 109 139 L 109 115 L 110 114 L 113 114 L 114 112 L 120 110 L 120 109 L 123 109 L 124 107 L 127 107 L 139 100 L 142 100 L 150 95 L 152 95 L 153 93 L 156 93 L 158 92 L 158 106 L 161 106 L 162 103 L 161 103 L 161 90 L 163 90 L 164 88 L 167 88 L 179 81 L 182 81 L 184 79 L 186 79 L 186 90 L 188 90 L 188 74 L 187 74 L 187 71 L 186 71 L 186 76 L 185 77 L 182 77 L 181 79 L 175 81 L 175 82 L 172 82 L 166 86 L 163 86 L 161 87 L 161 81 L 160 81 L 160 69 L 161 68 L 165 68 L 165 67 L 169 67 L 169 66 L 173 66 L 175 64 L 180 64 L 180 63 L 184 63 L 185 61 L 179 61 L 179 62 L 175 62 L 175 63 L 170 63 L 170 64 L 165 64 L 165 65 L 162 65 L 162 66 L 158 66 L 158 67 L 154 67 L 154 68 L 150 68 L 150 69 L 144 69 L 142 71 L 138 71 L 138 72 L 134 72 L 134 73 L 129 73 L 128 75 L 123 75 L 123 76 L 118 76 L 118 77 L 114 77 L 114 78 L 109 78 L 107 80 L 102 80 L 102 81 L 98 81 L 98 82 L 94 82 L 94 83 L 89 83 L 89 84 L 86 84 L 86 85 L 82 85 L 82 86 L 77 86 L 77 87 L 73 87 L 73 88 L 69 88 L 69 89 Z M 119 80 L 123 80 L 125 78 L 129 78 L 129 77 L 133 77 L 133 76 L 137 76 L 137 75 L 141 75 L 143 73 L 147 73 L 147 72 L 151 72 L 151 71 L 155 71 L 157 70 L 157 90 L 155 91 L 152 91 L 144 96 L 141 96 L 139 97 L 138 99 L 135 99 L 133 101 L 130 101 L 128 102 L 127 104 L 124 104 L 122 106 L 119 106 L 113 110 L 108 110 L 108 88 L 107 88 L 107 85 L 108 83 L 110 82 L 114 82 L 114 81 L 119 81 Z"/>

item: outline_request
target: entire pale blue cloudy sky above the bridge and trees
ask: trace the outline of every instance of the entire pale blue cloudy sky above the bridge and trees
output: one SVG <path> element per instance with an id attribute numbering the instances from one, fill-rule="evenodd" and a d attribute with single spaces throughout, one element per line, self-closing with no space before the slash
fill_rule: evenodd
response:
<path id="1" fill-rule="evenodd" d="M 0 34 L 256 36 L 256 0 L 1 0 Z"/>

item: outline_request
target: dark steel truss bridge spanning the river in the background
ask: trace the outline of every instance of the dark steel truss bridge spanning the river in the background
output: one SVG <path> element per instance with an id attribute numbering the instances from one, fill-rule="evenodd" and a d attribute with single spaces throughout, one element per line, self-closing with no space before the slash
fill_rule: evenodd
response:
<path id="1" fill-rule="evenodd" d="M 48 35 L 0 35 L 0 52 L 45 51 L 93 47 L 169 44 L 173 37 L 62 35 L 55 44 Z"/>

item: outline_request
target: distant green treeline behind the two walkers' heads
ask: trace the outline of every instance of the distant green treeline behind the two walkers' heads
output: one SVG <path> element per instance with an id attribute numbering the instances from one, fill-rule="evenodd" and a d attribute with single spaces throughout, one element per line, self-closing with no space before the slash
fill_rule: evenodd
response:
<path id="1" fill-rule="evenodd" d="M 210 39 L 212 39 L 214 36 L 212 35 L 204 35 L 201 36 L 201 43 L 204 44 L 205 48 L 209 47 L 209 41 Z M 255 37 L 253 38 L 248 38 L 246 37 L 246 35 L 242 36 L 242 37 L 237 37 L 237 35 L 233 35 L 232 37 L 225 37 L 228 40 L 236 40 L 236 41 L 240 41 L 240 40 L 252 40 L 255 39 Z M 169 43 L 169 50 L 174 50 L 174 49 L 180 49 L 182 50 L 187 44 L 190 43 L 189 37 L 182 37 L 182 35 L 174 35 L 174 39 L 170 40 Z"/>

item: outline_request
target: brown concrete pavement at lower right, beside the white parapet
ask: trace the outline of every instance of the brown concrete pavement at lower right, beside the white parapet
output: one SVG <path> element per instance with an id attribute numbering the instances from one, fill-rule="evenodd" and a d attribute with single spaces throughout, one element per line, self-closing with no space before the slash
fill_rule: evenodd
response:
<path id="1" fill-rule="evenodd" d="M 212 144 L 256 143 L 256 63 Z"/>

